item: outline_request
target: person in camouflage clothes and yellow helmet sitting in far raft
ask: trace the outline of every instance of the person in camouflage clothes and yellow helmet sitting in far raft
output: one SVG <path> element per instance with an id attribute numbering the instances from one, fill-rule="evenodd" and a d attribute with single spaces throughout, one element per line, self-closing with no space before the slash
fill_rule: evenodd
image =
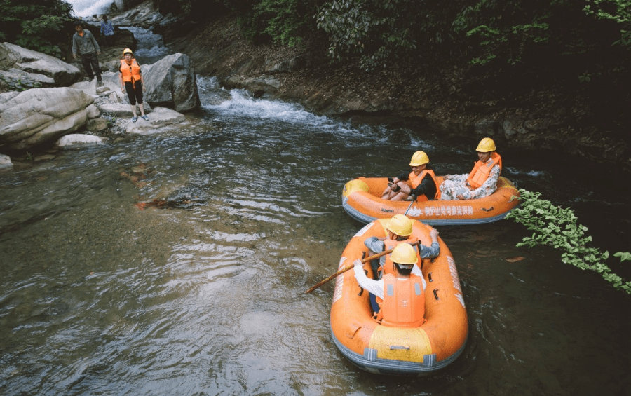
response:
<path id="1" fill-rule="evenodd" d="M 469 174 L 445 176 L 440 185 L 440 199 L 477 199 L 494 193 L 502 172 L 502 158 L 495 149 L 490 137 L 480 140 L 475 149 L 479 161 L 473 165 L 473 170 Z"/>

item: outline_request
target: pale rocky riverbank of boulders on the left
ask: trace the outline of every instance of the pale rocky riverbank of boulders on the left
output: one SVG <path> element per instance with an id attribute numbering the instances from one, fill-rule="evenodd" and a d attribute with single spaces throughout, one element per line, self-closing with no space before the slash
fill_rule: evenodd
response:
<path id="1" fill-rule="evenodd" d="M 72 64 L 0 43 L 0 80 L 5 82 L 0 90 L 0 168 L 11 166 L 6 154 L 30 158 L 29 151 L 40 153 L 51 144 L 100 144 L 105 136 L 175 130 L 189 122 L 179 111 L 199 106 L 196 75 L 184 54 L 143 65 L 148 120 L 131 119 L 116 61 L 101 63 L 101 69 L 102 84 L 97 85 Z"/>

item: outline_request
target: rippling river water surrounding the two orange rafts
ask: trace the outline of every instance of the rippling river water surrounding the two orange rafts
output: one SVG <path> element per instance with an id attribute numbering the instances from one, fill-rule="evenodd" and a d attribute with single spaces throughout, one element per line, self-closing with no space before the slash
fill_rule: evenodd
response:
<path id="1" fill-rule="evenodd" d="M 477 141 L 199 88 L 182 130 L 0 172 L 1 394 L 629 394 L 631 299 L 552 248 L 515 247 L 528 231 L 508 220 L 438 227 L 469 317 L 454 364 L 428 378 L 354 367 L 332 343 L 334 282 L 303 294 L 362 227 L 342 186 L 419 149 L 437 173 L 465 172 Z M 503 175 L 573 207 L 595 246 L 628 250 L 624 175 L 499 151 Z"/>

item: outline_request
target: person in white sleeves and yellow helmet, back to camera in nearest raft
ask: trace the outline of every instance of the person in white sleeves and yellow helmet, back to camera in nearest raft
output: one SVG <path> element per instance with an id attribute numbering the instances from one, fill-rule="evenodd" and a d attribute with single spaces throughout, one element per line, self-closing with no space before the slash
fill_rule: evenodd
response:
<path id="1" fill-rule="evenodd" d="M 367 278 L 361 260 L 353 261 L 355 279 L 360 287 L 377 296 L 376 320 L 394 327 L 419 327 L 425 322 L 425 288 L 423 273 L 416 263 L 416 250 L 407 243 L 392 252 L 393 273 L 381 280 Z"/>

